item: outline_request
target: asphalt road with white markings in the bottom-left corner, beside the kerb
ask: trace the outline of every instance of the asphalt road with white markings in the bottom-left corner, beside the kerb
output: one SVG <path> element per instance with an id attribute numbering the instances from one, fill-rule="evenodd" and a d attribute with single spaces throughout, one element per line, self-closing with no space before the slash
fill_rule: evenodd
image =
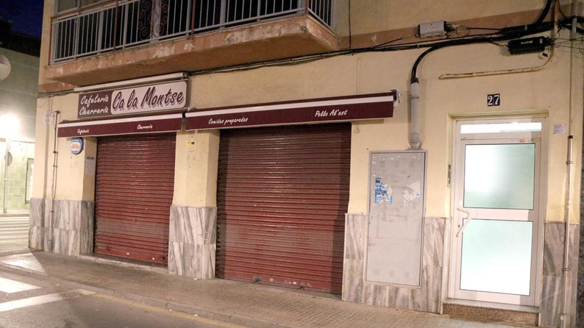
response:
<path id="1" fill-rule="evenodd" d="M 239 326 L 0 269 L 0 327 Z"/>

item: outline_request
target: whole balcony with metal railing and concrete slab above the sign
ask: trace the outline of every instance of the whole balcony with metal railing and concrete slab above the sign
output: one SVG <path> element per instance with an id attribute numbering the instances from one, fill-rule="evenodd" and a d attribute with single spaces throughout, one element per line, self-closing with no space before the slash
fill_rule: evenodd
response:
<path id="1" fill-rule="evenodd" d="M 99 2 L 53 18 L 45 77 L 88 85 L 332 51 L 332 10 L 332 0 Z"/>

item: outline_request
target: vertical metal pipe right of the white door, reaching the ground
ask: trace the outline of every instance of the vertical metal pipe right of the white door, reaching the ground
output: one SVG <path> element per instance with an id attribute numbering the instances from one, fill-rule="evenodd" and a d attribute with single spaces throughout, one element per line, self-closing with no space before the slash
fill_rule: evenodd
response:
<path id="1" fill-rule="evenodd" d="M 568 137 L 568 160 L 566 161 L 566 166 L 568 169 L 568 179 L 566 181 L 566 222 L 565 222 L 565 230 L 564 230 L 564 265 L 562 266 L 562 284 L 564 288 L 564 299 L 562 300 L 562 312 L 559 315 L 559 320 L 562 328 L 566 327 L 568 314 L 568 272 L 570 271 L 569 267 L 569 244 L 570 244 L 570 212 L 572 207 L 572 197 L 571 197 L 571 189 L 572 189 L 572 142 L 573 136 L 569 135 Z"/>

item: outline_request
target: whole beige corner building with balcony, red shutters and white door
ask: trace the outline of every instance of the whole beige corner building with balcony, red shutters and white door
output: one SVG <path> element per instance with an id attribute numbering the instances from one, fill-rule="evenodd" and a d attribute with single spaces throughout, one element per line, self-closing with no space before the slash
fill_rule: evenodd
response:
<path id="1" fill-rule="evenodd" d="M 575 326 L 579 1 L 89 2 L 45 1 L 30 247 Z"/>

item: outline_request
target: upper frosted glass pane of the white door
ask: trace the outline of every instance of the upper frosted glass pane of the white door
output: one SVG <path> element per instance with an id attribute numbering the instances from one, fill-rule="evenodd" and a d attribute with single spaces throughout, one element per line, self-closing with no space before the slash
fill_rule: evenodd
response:
<path id="1" fill-rule="evenodd" d="M 466 145 L 464 207 L 533 210 L 535 144 Z"/>

